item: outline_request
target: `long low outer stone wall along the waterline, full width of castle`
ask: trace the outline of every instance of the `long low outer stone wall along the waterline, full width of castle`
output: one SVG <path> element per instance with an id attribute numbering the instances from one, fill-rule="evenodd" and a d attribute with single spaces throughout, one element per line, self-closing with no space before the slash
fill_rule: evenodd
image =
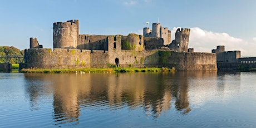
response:
<path id="1" fill-rule="evenodd" d="M 36 68 L 99 68 L 115 65 L 119 58 L 121 67 L 176 67 L 178 71 L 216 70 L 215 53 L 181 53 L 175 51 L 120 52 L 67 50 L 55 48 L 25 50 L 26 67 Z"/>

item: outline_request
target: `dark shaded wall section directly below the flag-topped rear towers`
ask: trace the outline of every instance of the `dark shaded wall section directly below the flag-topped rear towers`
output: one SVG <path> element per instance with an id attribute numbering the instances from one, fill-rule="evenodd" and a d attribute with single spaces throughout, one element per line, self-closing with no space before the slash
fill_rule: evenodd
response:
<path id="1" fill-rule="evenodd" d="M 160 47 L 164 46 L 163 38 L 153 38 L 153 37 L 145 37 L 144 38 L 144 46 L 145 50 L 157 50 Z"/>

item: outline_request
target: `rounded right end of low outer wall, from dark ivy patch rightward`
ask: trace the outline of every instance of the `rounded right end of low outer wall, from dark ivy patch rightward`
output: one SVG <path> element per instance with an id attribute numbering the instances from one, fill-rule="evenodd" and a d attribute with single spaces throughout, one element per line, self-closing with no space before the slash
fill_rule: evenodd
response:
<path id="1" fill-rule="evenodd" d="M 160 67 L 175 67 L 178 71 L 217 70 L 215 53 L 159 51 Z"/>

